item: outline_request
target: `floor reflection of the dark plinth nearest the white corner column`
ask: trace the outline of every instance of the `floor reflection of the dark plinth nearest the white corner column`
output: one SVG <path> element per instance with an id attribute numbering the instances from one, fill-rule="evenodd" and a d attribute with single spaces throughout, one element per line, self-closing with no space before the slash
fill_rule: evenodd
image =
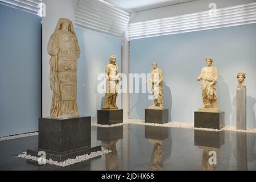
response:
<path id="1" fill-rule="evenodd" d="M 97 140 L 112 142 L 123 138 L 123 126 L 98 127 Z"/>

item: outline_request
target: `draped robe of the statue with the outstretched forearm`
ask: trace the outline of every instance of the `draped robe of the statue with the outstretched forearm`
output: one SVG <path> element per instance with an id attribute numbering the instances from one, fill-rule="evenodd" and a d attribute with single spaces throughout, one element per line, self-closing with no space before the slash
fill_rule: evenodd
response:
<path id="1" fill-rule="evenodd" d="M 163 100 L 163 72 L 162 69 L 156 68 L 151 71 L 151 92 L 156 105 L 164 105 Z"/>

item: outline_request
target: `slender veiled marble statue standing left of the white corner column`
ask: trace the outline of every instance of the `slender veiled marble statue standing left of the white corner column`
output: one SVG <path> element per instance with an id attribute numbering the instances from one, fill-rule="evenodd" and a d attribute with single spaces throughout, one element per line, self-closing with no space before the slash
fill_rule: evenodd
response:
<path id="1" fill-rule="evenodd" d="M 115 55 L 110 56 L 109 64 L 106 65 L 106 94 L 105 104 L 102 109 L 115 110 L 117 106 L 117 91 L 118 91 L 118 79 L 121 77 L 118 73 L 118 66 L 115 64 L 117 57 Z"/>

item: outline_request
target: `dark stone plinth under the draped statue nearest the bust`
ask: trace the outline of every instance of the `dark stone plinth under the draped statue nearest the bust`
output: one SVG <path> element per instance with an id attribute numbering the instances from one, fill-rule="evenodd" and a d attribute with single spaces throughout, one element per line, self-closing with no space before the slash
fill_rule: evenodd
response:
<path id="1" fill-rule="evenodd" d="M 220 130 L 225 127 L 225 113 L 195 112 L 195 127 Z"/>

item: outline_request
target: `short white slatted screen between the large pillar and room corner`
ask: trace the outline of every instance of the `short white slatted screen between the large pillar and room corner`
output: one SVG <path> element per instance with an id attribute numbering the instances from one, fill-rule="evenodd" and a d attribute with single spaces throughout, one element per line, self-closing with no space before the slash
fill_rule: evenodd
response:
<path id="1" fill-rule="evenodd" d="M 120 38 L 129 20 L 129 13 L 98 0 L 80 0 L 75 13 L 76 26 Z"/>

